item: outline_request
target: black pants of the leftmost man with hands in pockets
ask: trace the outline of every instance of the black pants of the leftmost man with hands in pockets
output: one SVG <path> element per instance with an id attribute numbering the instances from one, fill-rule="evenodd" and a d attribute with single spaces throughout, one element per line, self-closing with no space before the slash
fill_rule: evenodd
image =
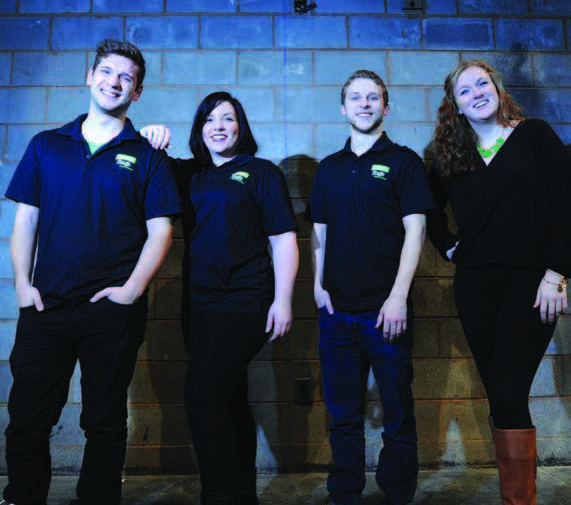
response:
<path id="1" fill-rule="evenodd" d="M 21 309 L 10 356 L 14 383 L 6 429 L 4 498 L 44 505 L 51 480 L 49 439 L 81 369 L 80 426 L 86 444 L 77 495 L 81 503 L 116 505 L 127 447 L 127 389 L 143 341 L 146 298 L 119 305 L 103 298 L 75 308 Z"/>

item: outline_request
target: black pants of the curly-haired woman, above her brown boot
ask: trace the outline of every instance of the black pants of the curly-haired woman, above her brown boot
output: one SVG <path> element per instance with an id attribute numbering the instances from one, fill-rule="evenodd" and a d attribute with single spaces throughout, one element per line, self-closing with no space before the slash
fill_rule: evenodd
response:
<path id="1" fill-rule="evenodd" d="M 542 276 L 515 268 L 456 270 L 458 315 L 499 429 L 533 426 L 529 393 L 555 329 L 533 308 Z"/>

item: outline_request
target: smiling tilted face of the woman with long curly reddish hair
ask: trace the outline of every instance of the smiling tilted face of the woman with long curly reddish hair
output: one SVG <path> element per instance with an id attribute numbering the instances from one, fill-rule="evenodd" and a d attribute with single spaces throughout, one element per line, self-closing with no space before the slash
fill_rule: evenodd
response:
<path id="1" fill-rule="evenodd" d="M 468 67 L 454 86 L 458 113 L 471 123 L 496 120 L 499 107 L 498 91 L 490 74 L 481 67 Z"/>

